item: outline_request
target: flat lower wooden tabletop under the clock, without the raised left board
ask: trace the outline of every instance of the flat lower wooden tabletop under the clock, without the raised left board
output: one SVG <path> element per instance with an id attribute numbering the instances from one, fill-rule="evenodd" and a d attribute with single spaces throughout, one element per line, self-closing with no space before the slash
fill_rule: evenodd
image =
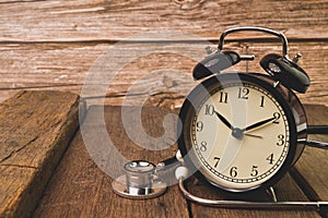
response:
<path id="1" fill-rule="evenodd" d="M 318 124 L 314 117 L 325 114 L 327 111 L 327 108 L 323 106 L 307 106 L 306 109 L 309 113 L 308 117 L 312 124 Z M 159 162 L 175 154 L 177 149 L 176 144 L 162 150 L 151 150 L 140 147 L 140 145 L 145 145 L 148 142 L 140 129 L 138 129 L 137 135 L 139 135 L 138 142 L 141 142 L 141 144 L 137 146 L 136 142 L 129 138 L 128 130 L 122 125 L 121 110 L 121 107 L 106 106 L 104 108 L 104 118 L 106 122 L 105 132 L 108 133 L 116 149 L 118 149 L 124 157 L 127 159 L 145 159 Z M 129 120 L 129 126 L 126 128 L 136 129 L 138 122 L 132 111 L 138 109 L 136 107 L 128 107 L 127 110 L 131 111 L 131 114 L 125 113 Z M 91 133 L 104 133 L 101 123 L 103 118 L 102 111 L 103 108 L 99 106 L 90 108 L 83 128 L 75 135 L 70 148 L 56 169 L 40 204 L 34 214 L 35 217 L 320 217 L 320 214 L 316 209 L 279 208 L 272 210 L 206 207 L 189 201 L 186 202 L 183 195 L 180 195 L 177 185 L 169 186 L 167 193 L 155 199 L 131 201 L 118 197 L 112 190 L 110 183 L 113 177 L 110 173 L 108 174 L 106 169 L 108 169 L 108 167 L 109 169 L 117 169 L 118 174 L 120 174 L 122 173 L 120 168 L 124 162 L 114 158 L 110 155 L 112 153 L 106 150 L 108 147 L 103 146 L 106 137 L 102 134 L 93 135 Z M 153 137 L 159 137 L 164 134 L 162 126 L 163 117 L 171 112 L 176 113 L 177 111 L 159 107 L 144 107 L 141 113 L 144 131 Z M 174 120 L 169 122 L 168 130 L 172 130 L 172 133 L 176 131 Z M 300 184 L 300 177 L 294 178 L 295 173 L 291 173 L 292 175 L 285 174 L 274 186 L 279 201 L 327 201 L 325 181 L 328 174 L 321 171 L 318 181 L 314 181 L 314 178 L 318 178 L 319 170 L 323 166 L 321 164 L 325 164 L 326 159 L 323 157 L 323 159 L 315 159 L 311 166 L 302 164 L 304 159 L 317 158 L 316 153 L 317 150 L 315 150 L 315 148 L 307 149 L 296 166 L 298 172 L 305 178 L 306 185 Z M 103 154 L 107 154 L 107 156 L 102 156 Z M 314 173 L 312 173 L 312 171 L 314 171 Z M 173 177 L 173 174 L 169 174 L 169 177 Z M 194 180 L 189 180 L 187 186 L 191 193 L 202 197 L 215 199 L 232 198 L 232 196 L 215 191 L 203 183 L 195 183 Z M 315 190 L 321 194 L 318 195 L 319 197 L 317 199 L 314 199 L 307 190 Z M 251 193 L 251 195 L 243 197 L 243 199 L 271 201 L 269 195 L 262 192 Z"/>

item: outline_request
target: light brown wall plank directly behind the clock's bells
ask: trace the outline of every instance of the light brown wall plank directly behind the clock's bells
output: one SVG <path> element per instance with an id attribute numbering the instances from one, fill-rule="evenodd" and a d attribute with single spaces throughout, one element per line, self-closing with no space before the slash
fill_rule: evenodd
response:
<path id="1" fill-rule="evenodd" d="M 40 44 L 1 45 L 0 92 L 1 98 L 12 95 L 15 88 L 65 89 L 80 93 L 84 83 L 95 86 L 106 85 L 110 95 L 106 102 L 120 105 L 129 93 L 144 99 L 154 95 L 175 93 L 179 101 L 195 87 L 191 70 L 204 56 L 209 41 L 199 44 L 153 43 L 153 44 Z M 212 45 L 215 48 L 215 45 Z M 256 60 L 248 63 L 249 71 L 262 72 L 258 62 L 269 52 L 281 53 L 280 44 L 274 43 L 231 43 L 227 50 L 254 53 Z M 291 56 L 303 53 L 300 65 L 309 74 L 312 85 L 303 102 L 328 102 L 326 83 L 328 70 L 327 43 L 291 43 Z M 97 70 L 101 66 L 103 69 Z M 113 69 L 117 69 L 117 75 Z M 233 68 L 245 71 L 246 63 Z M 103 72 L 103 76 L 92 76 Z M 133 89 L 131 86 L 133 85 Z M 8 89 L 11 88 L 11 89 Z M 130 90 L 129 90 L 130 88 Z M 120 98 L 118 98 L 120 97 Z M 157 100 L 159 102 L 160 100 Z"/>

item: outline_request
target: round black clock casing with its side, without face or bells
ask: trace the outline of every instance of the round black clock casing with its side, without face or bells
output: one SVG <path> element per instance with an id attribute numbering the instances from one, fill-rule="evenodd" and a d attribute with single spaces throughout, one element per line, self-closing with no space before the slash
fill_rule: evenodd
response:
<path id="1" fill-rule="evenodd" d="M 200 107 L 202 107 L 203 102 L 214 93 L 221 90 L 222 87 L 230 87 L 232 84 L 236 83 L 241 85 L 244 83 L 254 84 L 268 92 L 281 107 L 288 124 L 289 147 L 281 166 L 279 166 L 278 170 L 268 175 L 269 179 L 257 182 L 256 185 L 238 185 L 237 182 L 235 185 L 222 184 L 219 182 L 219 178 L 215 179 L 215 177 L 211 177 L 210 172 L 207 173 L 207 170 L 204 169 L 207 160 L 202 162 L 199 161 L 199 158 L 192 148 L 192 146 L 195 146 L 195 138 L 192 140 L 191 134 L 192 128 L 195 131 L 195 124 L 192 126 L 192 122 L 195 122 L 194 120 L 197 117 Z M 226 97 L 227 96 L 223 94 L 218 100 L 227 100 Z M 234 106 L 232 105 L 232 107 Z M 181 122 L 179 122 L 178 129 L 181 131 L 181 134 L 178 137 L 178 147 L 184 156 L 187 167 L 191 169 L 191 171 L 196 173 L 196 177 L 201 181 L 229 192 L 248 192 L 256 189 L 267 189 L 272 186 L 296 162 L 305 146 L 301 142 L 306 142 L 307 136 L 305 111 L 296 95 L 283 85 L 277 83 L 270 76 L 258 73 L 222 73 L 203 81 L 187 96 L 179 112 L 179 118 Z"/>

